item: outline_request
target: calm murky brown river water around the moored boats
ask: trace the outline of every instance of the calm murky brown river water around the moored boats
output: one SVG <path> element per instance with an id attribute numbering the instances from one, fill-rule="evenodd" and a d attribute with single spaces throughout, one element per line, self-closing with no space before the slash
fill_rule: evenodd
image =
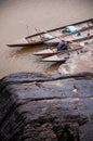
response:
<path id="1" fill-rule="evenodd" d="M 17 72 L 56 72 L 59 63 L 32 55 L 38 47 L 5 44 L 35 34 L 35 28 L 46 30 L 92 17 L 93 0 L 0 0 L 0 78 Z"/>

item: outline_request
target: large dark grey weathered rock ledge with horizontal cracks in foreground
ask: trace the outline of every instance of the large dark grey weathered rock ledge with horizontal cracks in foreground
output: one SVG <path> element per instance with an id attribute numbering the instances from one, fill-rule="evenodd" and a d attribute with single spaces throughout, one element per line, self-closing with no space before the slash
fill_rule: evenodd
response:
<path id="1" fill-rule="evenodd" d="M 0 141 L 92 141 L 93 74 L 0 80 Z"/>

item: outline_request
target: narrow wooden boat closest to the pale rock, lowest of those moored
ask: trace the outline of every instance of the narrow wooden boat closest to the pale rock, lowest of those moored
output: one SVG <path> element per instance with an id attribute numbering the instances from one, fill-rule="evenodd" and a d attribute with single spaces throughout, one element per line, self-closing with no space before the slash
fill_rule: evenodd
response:
<path id="1" fill-rule="evenodd" d="M 89 37 L 84 38 L 84 40 L 82 40 L 81 42 L 87 43 L 85 47 L 88 47 L 88 44 L 91 44 L 93 42 L 93 36 L 90 36 L 90 38 Z M 63 62 L 63 61 L 66 61 L 67 59 L 69 59 L 69 53 L 77 53 L 77 51 L 79 51 L 81 49 L 82 49 L 82 47 L 76 46 L 75 49 L 62 51 L 57 54 L 51 55 L 49 57 L 44 57 L 41 61 L 43 61 L 43 62 Z"/>

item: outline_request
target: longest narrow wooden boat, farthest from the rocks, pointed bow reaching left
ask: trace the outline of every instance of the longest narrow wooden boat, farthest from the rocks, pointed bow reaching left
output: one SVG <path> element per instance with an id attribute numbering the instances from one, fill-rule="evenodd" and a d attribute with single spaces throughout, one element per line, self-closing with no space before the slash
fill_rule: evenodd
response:
<path id="1" fill-rule="evenodd" d="M 79 31 L 79 30 L 81 30 L 85 27 L 92 26 L 93 25 L 93 18 L 82 21 L 82 22 L 79 22 L 79 23 L 75 23 L 75 24 L 69 24 L 69 25 L 75 26 Z M 16 41 L 16 43 L 9 43 L 6 46 L 9 46 L 9 47 L 27 47 L 27 46 L 42 44 L 42 43 L 44 43 L 44 41 L 48 41 L 48 40 L 57 38 L 59 36 L 66 35 L 63 31 L 67 26 L 68 25 L 62 26 L 62 27 L 58 27 L 58 28 L 54 28 L 54 29 L 50 29 L 50 30 L 46 30 L 46 31 L 38 31 L 35 35 L 27 36 L 27 37 L 19 39 L 18 41 Z"/>

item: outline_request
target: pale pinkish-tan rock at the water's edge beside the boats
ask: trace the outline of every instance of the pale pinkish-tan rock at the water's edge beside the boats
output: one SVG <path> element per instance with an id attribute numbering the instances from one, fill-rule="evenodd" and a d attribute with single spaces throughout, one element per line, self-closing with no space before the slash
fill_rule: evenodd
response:
<path id="1" fill-rule="evenodd" d="M 58 68 L 61 74 L 76 74 L 83 72 L 93 72 L 93 49 L 83 48 L 71 53 L 69 60 Z"/>

